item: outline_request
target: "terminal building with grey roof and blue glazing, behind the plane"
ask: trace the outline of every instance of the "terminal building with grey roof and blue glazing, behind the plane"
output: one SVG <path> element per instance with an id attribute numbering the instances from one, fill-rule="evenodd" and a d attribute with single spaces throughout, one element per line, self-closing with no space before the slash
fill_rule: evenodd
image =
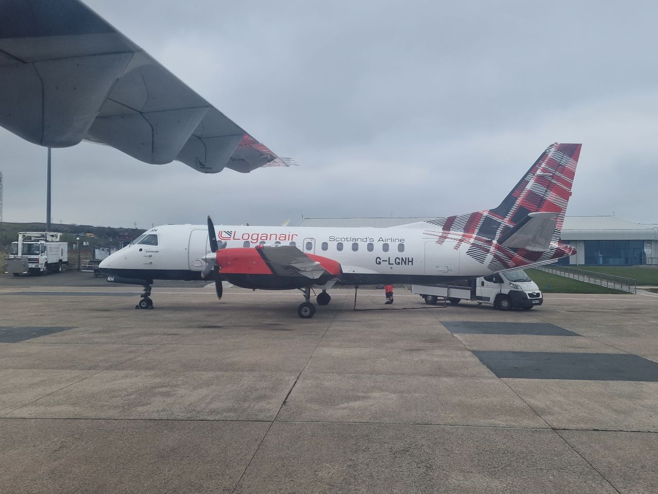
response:
<path id="1" fill-rule="evenodd" d="M 298 227 L 388 228 L 438 216 L 403 218 L 303 218 Z M 567 216 L 562 240 L 578 254 L 563 265 L 658 265 L 658 224 L 641 225 L 615 216 Z"/>

